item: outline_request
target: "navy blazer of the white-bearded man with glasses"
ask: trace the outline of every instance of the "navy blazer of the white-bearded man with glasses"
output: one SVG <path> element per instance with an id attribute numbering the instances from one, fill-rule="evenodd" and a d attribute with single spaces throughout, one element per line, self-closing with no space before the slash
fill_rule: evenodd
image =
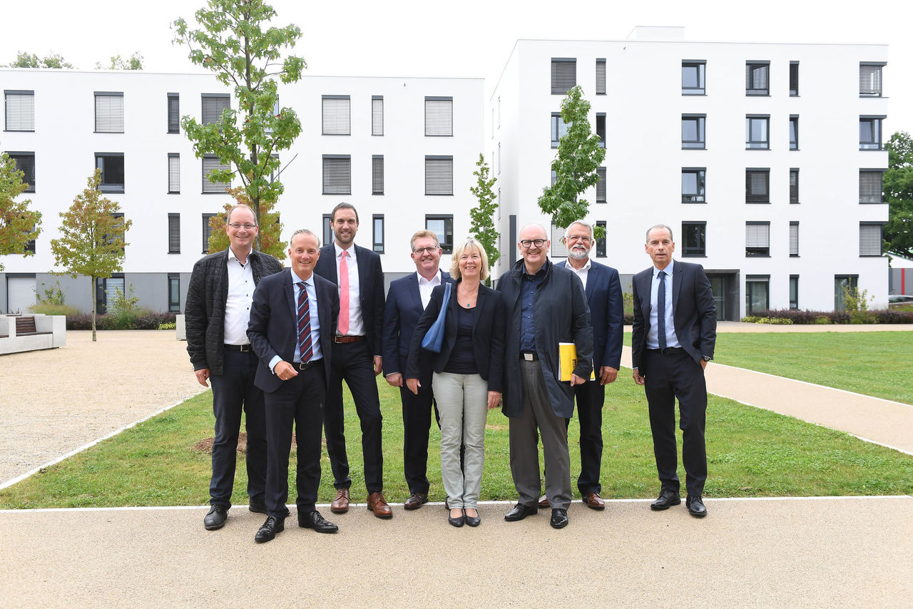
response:
<path id="1" fill-rule="evenodd" d="M 571 268 L 565 262 L 556 262 L 555 266 Z M 590 306 L 590 323 L 593 324 L 593 370 L 598 379 L 602 366 L 618 370 L 622 365 L 624 298 L 617 270 L 590 260 L 590 270 L 586 274 L 586 303 Z"/>

